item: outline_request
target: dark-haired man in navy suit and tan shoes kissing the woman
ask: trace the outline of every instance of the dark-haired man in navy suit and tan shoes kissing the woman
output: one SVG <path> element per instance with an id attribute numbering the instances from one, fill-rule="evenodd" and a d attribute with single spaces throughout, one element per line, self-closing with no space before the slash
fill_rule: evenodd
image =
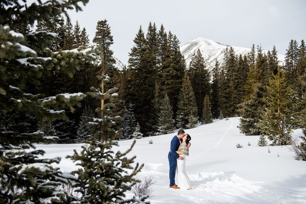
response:
<path id="1" fill-rule="evenodd" d="M 180 189 L 177 185 L 175 185 L 175 171 L 177 166 L 177 159 L 184 160 L 182 156 L 179 156 L 175 151 L 177 151 L 178 147 L 181 144 L 181 139 L 184 137 L 185 131 L 180 129 L 177 132 L 177 135 L 174 136 L 171 140 L 170 151 L 168 154 L 169 160 L 169 178 L 170 178 L 170 188 Z"/>

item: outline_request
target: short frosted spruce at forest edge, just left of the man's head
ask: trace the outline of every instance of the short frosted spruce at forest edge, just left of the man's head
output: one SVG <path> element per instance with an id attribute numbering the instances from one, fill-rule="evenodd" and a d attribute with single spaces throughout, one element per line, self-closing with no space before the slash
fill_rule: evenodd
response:
<path id="1" fill-rule="evenodd" d="M 159 109 L 160 111 L 158 113 L 158 119 L 157 119 L 158 134 L 164 135 L 164 134 L 173 133 L 174 131 L 173 111 L 167 94 L 162 99 Z"/>

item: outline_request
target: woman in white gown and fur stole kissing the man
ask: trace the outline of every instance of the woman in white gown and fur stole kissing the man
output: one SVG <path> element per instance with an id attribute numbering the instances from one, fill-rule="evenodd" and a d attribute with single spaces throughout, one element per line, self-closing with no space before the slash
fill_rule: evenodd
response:
<path id="1" fill-rule="evenodd" d="M 186 163 L 185 156 L 189 155 L 189 148 L 187 147 L 187 145 L 188 145 L 190 140 L 191 140 L 190 135 L 185 134 L 185 136 L 183 137 L 183 142 L 178 147 L 178 151 L 176 151 L 176 153 L 178 155 L 180 155 L 184 158 L 183 160 L 177 159 L 177 166 L 176 166 L 177 186 L 179 186 L 183 189 L 193 189 L 193 188 L 195 188 L 195 186 L 193 186 L 190 183 L 190 180 L 189 180 L 188 175 L 186 173 L 186 167 L 185 167 L 185 163 Z"/>

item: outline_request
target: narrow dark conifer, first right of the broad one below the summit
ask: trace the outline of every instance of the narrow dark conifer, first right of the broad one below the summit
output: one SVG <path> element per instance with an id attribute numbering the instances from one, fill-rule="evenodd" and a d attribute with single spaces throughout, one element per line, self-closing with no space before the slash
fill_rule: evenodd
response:
<path id="1" fill-rule="evenodd" d="M 212 82 L 211 82 L 211 112 L 213 115 L 213 118 L 218 118 L 220 114 L 220 99 L 219 99 L 219 74 L 220 68 L 219 68 L 219 62 L 216 60 L 215 67 L 212 70 Z"/>

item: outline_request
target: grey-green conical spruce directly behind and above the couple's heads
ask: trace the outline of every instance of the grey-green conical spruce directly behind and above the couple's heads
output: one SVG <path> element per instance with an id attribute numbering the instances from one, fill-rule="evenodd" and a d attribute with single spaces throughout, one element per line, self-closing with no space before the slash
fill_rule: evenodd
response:
<path id="1" fill-rule="evenodd" d="M 185 129 L 188 124 L 188 118 L 190 115 L 197 117 L 198 109 L 196 106 L 196 97 L 192 90 L 189 76 L 185 74 L 183 78 L 183 85 L 180 90 L 178 111 L 175 117 L 177 128 Z"/>

